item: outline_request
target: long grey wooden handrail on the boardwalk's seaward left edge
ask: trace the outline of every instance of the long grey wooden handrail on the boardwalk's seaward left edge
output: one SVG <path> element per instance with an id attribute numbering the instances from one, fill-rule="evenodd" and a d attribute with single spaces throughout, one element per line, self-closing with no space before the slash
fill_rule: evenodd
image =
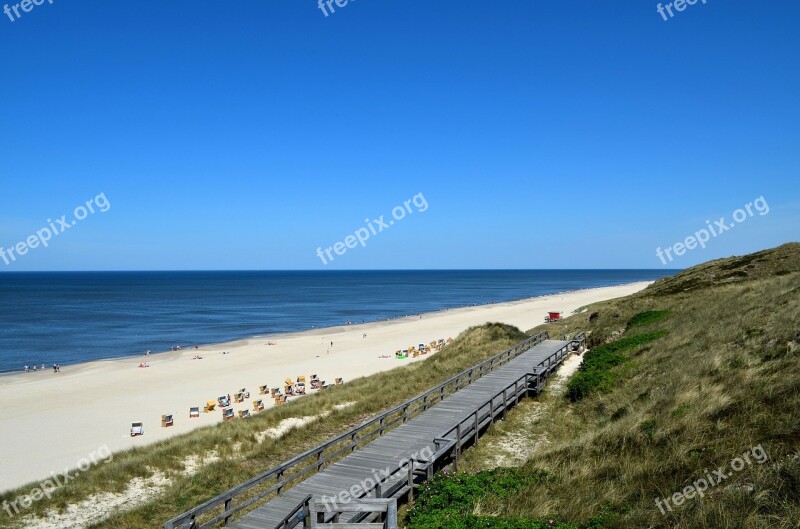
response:
<path id="1" fill-rule="evenodd" d="M 227 521 L 234 514 L 249 507 L 250 505 L 253 505 L 255 502 L 259 501 L 260 499 L 263 499 L 264 497 L 272 494 L 273 492 L 276 492 L 278 495 L 280 495 L 281 490 L 285 487 L 287 483 L 291 483 L 294 479 L 297 479 L 298 477 L 307 474 L 314 467 L 316 467 L 317 470 L 320 470 L 325 464 L 330 463 L 335 457 L 338 457 L 343 453 L 346 453 L 348 450 L 350 451 L 355 450 L 355 448 L 360 443 L 364 442 L 364 440 L 372 438 L 376 433 L 378 437 L 380 437 L 389 429 L 390 426 L 393 426 L 394 423 L 399 422 L 400 420 L 402 420 L 402 422 L 407 421 L 411 415 L 413 415 L 416 412 L 419 412 L 420 409 L 424 411 L 425 409 L 427 409 L 429 406 L 432 405 L 432 403 L 428 401 L 428 398 L 431 395 L 438 394 L 437 398 L 439 400 L 443 400 L 447 393 L 446 391 L 447 386 L 455 383 L 455 388 L 453 391 L 458 391 L 465 385 L 468 385 L 469 383 L 472 383 L 474 380 L 477 380 L 476 378 L 473 378 L 473 375 L 476 373 L 476 371 L 478 372 L 478 378 L 480 378 L 484 374 L 487 374 L 493 371 L 495 368 L 499 367 L 500 365 L 503 365 L 504 363 L 510 361 L 512 358 L 519 356 L 519 354 L 521 354 L 522 352 L 527 351 L 531 347 L 538 345 L 539 343 L 548 339 L 548 337 L 549 335 L 547 331 L 540 332 L 534 336 L 531 336 L 530 338 L 527 338 L 519 342 L 518 344 L 509 347 L 508 349 L 492 356 L 491 358 L 483 360 L 482 362 L 472 366 L 471 368 L 466 369 L 461 373 L 458 373 L 457 375 L 450 377 L 444 382 L 429 389 L 425 393 L 417 395 L 416 397 L 413 397 L 401 404 L 398 404 L 397 406 L 390 408 L 389 410 L 373 417 L 372 419 L 363 422 L 358 426 L 351 428 L 350 430 L 347 430 L 346 432 L 334 437 L 333 439 L 330 439 L 325 443 L 322 443 L 321 445 L 318 445 L 314 448 L 306 450 L 302 454 L 297 455 L 292 459 L 285 461 L 280 465 L 267 470 L 266 472 L 254 476 L 249 480 L 245 481 L 244 483 L 237 485 L 236 487 L 233 487 L 223 492 L 222 494 L 219 494 L 205 501 L 204 503 L 172 518 L 171 520 L 169 520 L 164 524 L 164 527 L 165 529 L 179 529 L 182 528 L 184 524 L 186 524 L 187 522 L 190 522 L 192 524 L 192 527 L 195 527 L 196 518 L 199 515 L 207 513 L 211 509 L 219 507 L 220 505 L 224 505 L 223 513 L 218 516 L 215 516 L 211 521 L 203 524 L 202 527 L 212 527 L 213 525 L 215 525 L 220 521 L 223 522 L 223 525 L 226 525 Z M 498 362 L 498 364 L 495 365 L 495 362 Z M 485 370 L 486 366 L 489 366 L 488 370 Z M 467 384 L 462 385 L 461 382 L 464 382 L 464 380 L 462 379 L 465 379 L 467 377 L 469 377 Z M 412 413 L 409 413 L 409 408 L 411 408 L 411 406 L 413 406 L 414 404 L 419 403 L 420 401 L 422 401 L 422 405 L 414 409 Z M 389 424 L 384 423 L 386 418 L 400 411 L 402 411 L 401 417 L 394 419 Z M 376 423 L 379 423 L 378 428 L 376 428 L 372 432 L 369 432 L 367 435 L 363 435 L 359 438 L 358 436 L 359 433 L 364 432 L 367 428 L 375 425 Z M 326 458 L 322 457 L 322 454 L 325 452 L 325 450 L 339 443 L 342 443 L 347 438 L 350 438 L 349 443 L 347 443 L 339 450 L 334 452 L 334 454 L 331 454 Z M 288 471 L 293 470 L 295 467 L 299 466 L 303 461 L 309 458 L 314 458 L 313 464 L 309 464 L 306 467 L 302 468 L 300 471 L 295 471 L 294 473 L 287 476 Z M 248 498 L 243 503 L 240 503 L 238 505 L 233 505 L 234 498 L 240 496 L 241 494 L 244 494 L 245 492 L 251 490 L 252 488 L 258 485 L 264 484 L 267 480 L 269 480 L 272 477 L 277 477 L 277 483 L 275 483 L 273 486 L 269 487 L 264 491 L 259 492 L 258 494 L 256 494 L 251 498 Z"/>

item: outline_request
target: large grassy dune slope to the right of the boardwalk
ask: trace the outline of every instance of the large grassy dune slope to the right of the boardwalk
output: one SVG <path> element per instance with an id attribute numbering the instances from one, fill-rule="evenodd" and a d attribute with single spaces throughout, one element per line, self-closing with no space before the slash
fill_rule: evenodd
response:
<path id="1" fill-rule="evenodd" d="M 412 529 L 800 527 L 800 244 L 707 263 L 547 328 L 588 329 L 588 368 L 542 397 L 544 415 L 525 403 L 465 453 L 474 473 L 509 436 L 536 442 L 515 469 L 524 486 L 462 489 L 470 501 L 449 520 L 412 514 Z M 763 464 L 731 470 L 759 445 Z M 730 476 L 662 514 L 656 497 L 702 488 L 718 467 Z"/>

